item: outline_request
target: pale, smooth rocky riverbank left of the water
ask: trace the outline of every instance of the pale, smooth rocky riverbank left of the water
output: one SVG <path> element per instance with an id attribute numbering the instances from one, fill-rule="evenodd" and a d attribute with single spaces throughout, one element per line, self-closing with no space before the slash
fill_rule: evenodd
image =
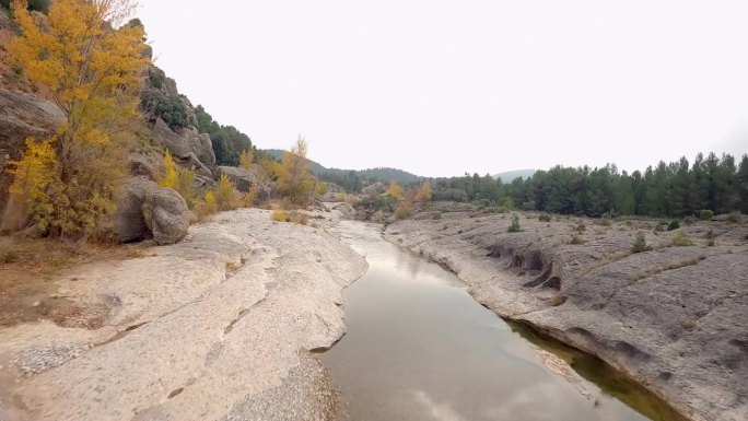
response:
<path id="1" fill-rule="evenodd" d="M 341 291 L 365 269 L 324 227 L 238 210 L 143 257 L 68 270 L 57 295 L 80 303 L 80 324 L 0 330 L 0 419 L 332 418 L 308 351 L 343 335 Z"/>

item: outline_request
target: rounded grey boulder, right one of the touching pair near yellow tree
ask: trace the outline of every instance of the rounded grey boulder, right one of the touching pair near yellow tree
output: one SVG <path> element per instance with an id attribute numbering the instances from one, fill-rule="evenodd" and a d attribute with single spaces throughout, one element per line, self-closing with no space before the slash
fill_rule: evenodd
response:
<path id="1" fill-rule="evenodd" d="M 187 235 L 189 209 L 185 199 L 173 188 L 147 189 L 141 210 L 145 226 L 157 245 L 178 243 Z"/>

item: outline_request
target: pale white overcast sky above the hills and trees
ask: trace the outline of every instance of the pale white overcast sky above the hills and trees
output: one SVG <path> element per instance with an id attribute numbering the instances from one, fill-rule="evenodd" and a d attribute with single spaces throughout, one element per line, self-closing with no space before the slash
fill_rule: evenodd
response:
<path id="1" fill-rule="evenodd" d="M 748 152 L 748 1 L 141 0 L 156 65 L 261 149 L 424 176 Z"/>

